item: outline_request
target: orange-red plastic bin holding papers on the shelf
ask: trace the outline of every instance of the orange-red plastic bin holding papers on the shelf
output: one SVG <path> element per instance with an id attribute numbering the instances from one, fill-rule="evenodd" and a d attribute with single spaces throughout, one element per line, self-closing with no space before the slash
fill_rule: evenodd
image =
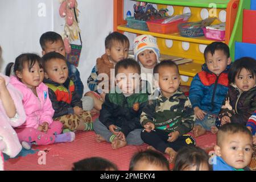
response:
<path id="1" fill-rule="evenodd" d="M 185 23 L 187 20 L 179 20 L 177 22 L 171 22 L 171 23 L 165 23 L 162 24 L 164 19 L 157 19 L 157 20 L 150 20 L 147 21 L 147 26 L 149 31 L 155 32 L 155 33 L 160 33 L 160 34 L 172 34 L 175 32 L 179 32 L 178 30 L 178 24 L 180 23 Z"/>

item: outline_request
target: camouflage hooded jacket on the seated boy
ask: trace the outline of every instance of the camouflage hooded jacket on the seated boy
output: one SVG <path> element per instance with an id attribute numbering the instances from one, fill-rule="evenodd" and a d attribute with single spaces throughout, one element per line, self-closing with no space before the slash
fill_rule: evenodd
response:
<path id="1" fill-rule="evenodd" d="M 148 100 L 141 114 L 142 126 L 147 122 L 154 123 L 156 129 L 168 133 L 177 130 L 183 135 L 192 130 L 195 115 L 189 98 L 177 90 L 170 99 L 160 94 L 155 100 Z"/>

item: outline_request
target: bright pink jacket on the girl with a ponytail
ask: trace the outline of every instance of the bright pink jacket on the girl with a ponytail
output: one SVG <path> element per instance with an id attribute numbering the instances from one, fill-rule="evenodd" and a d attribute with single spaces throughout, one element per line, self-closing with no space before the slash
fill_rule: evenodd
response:
<path id="1" fill-rule="evenodd" d="M 27 119 L 19 128 L 34 127 L 34 129 L 37 129 L 43 122 L 48 122 L 50 125 L 53 121 L 54 110 L 52 102 L 49 100 L 48 86 L 43 82 L 37 86 L 36 93 L 38 97 L 36 97 L 32 90 L 15 76 L 11 76 L 10 82 L 23 94 L 22 102 Z"/>

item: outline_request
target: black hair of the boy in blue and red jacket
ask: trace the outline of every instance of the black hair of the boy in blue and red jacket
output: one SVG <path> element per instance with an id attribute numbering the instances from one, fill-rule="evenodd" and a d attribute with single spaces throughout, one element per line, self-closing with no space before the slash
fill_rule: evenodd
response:
<path id="1" fill-rule="evenodd" d="M 225 44 L 223 42 L 213 42 L 213 43 L 209 44 L 204 50 L 205 61 L 207 60 L 208 52 L 210 52 L 212 55 L 214 55 L 214 52 L 217 50 L 223 51 L 224 55 L 226 55 L 226 57 L 228 57 L 228 58 L 230 57 L 229 47 L 227 44 Z"/>

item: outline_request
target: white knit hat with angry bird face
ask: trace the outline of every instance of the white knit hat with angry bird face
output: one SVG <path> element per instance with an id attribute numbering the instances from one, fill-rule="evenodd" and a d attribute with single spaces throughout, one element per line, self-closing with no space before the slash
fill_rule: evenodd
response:
<path id="1" fill-rule="evenodd" d="M 138 55 L 146 49 L 154 51 L 157 61 L 160 58 L 160 50 L 156 43 L 156 38 L 152 35 L 140 35 L 133 41 L 133 51 L 135 60 L 138 61 Z"/>

